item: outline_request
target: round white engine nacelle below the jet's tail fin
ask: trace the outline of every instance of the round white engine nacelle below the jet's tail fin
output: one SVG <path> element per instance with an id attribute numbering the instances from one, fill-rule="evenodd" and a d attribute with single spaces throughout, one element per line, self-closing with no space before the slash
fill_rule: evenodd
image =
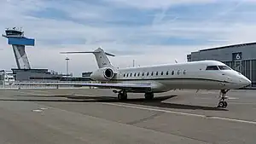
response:
<path id="1" fill-rule="evenodd" d="M 104 67 L 92 72 L 90 78 L 96 81 L 108 81 L 112 79 L 114 72 L 112 68 Z"/>

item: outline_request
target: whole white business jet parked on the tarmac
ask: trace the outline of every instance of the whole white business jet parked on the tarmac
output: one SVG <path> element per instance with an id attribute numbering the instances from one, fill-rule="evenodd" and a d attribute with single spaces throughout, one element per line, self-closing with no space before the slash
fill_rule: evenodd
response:
<path id="1" fill-rule="evenodd" d="M 94 86 L 113 89 L 119 101 L 127 99 L 127 93 L 144 93 L 145 99 L 154 99 L 154 93 L 172 89 L 219 89 L 218 107 L 227 107 L 226 93 L 230 89 L 239 89 L 251 84 L 240 72 L 217 60 L 201 60 L 185 63 L 140 66 L 119 69 L 111 64 L 108 56 L 114 56 L 98 48 L 91 52 L 61 52 L 61 54 L 92 53 L 96 57 L 98 69 L 90 78 L 101 84 L 65 84 L 54 85 Z M 18 83 L 23 84 L 23 83 Z M 24 83 L 33 84 L 33 83 Z M 40 83 L 34 83 L 40 84 Z M 47 84 L 47 83 L 41 83 Z"/>

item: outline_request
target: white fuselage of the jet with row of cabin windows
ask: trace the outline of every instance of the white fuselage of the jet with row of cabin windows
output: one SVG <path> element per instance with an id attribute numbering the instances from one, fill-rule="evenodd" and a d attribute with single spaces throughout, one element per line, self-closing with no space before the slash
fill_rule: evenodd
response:
<path id="1" fill-rule="evenodd" d="M 118 69 L 115 73 L 109 82 L 151 84 L 154 93 L 171 89 L 239 89 L 251 84 L 241 73 L 216 60 L 132 67 Z M 96 79 L 94 74 L 91 78 Z"/>

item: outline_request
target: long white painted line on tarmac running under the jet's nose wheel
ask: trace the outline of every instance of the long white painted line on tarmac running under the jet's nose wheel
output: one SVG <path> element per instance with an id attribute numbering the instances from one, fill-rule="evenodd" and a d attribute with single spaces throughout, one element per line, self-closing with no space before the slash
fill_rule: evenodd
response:
<path id="1" fill-rule="evenodd" d="M 174 113 L 174 114 L 180 114 L 180 115 L 185 115 L 185 116 L 194 116 L 194 117 L 207 118 L 207 119 L 219 119 L 219 120 L 227 120 L 227 121 L 230 121 L 230 122 L 256 124 L 255 121 L 248 121 L 248 120 L 235 119 L 235 118 L 222 118 L 222 117 L 215 117 L 215 116 L 209 117 L 209 116 L 206 116 L 206 115 L 195 114 L 195 113 L 175 112 L 175 111 L 155 109 L 155 108 L 150 108 L 150 107 L 137 107 L 137 106 L 122 105 L 122 104 L 107 103 L 107 102 L 99 102 L 99 103 L 105 104 L 105 105 L 112 105 L 112 106 L 119 106 L 119 107 L 129 107 L 129 108 L 143 109 L 143 110 L 156 111 L 156 112 Z"/>

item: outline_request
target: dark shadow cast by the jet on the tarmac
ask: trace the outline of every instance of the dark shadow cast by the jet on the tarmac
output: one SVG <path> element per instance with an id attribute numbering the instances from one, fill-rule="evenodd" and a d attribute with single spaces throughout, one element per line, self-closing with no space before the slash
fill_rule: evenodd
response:
<path id="1" fill-rule="evenodd" d="M 162 107 L 162 108 L 173 108 L 173 109 L 189 109 L 189 110 L 207 110 L 207 111 L 228 111 L 218 107 L 203 107 L 195 105 L 177 104 L 162 102 L 167 99 L 176 97 L 177 95 L 166 95 L 160 97 L 154 97 L 153 100 L 145 100 L 144 98 L 127 99 L 125 101 L 119 101 L 117 97 L 113 96 L 78 96 L 78 95 L 15 95 L 19 97 L 34 97 L 34 98 L 67 98 L 69 100 L 60 99 L 0 99 L 0 101 L 36 101 L 36 102 L 121 102 L 128 104 L 135 104 L 149 107 Z"/>

